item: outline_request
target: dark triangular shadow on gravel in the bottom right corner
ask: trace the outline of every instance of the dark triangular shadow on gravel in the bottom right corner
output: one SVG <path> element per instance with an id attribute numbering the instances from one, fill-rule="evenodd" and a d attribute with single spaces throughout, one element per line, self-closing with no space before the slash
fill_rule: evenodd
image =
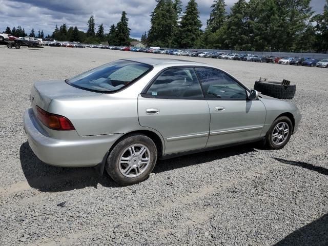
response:
<path id="1" fill-rule="evenodd" d="M 294 231 L 275 246 L 326 246 L 328 245 L 328 214 Z"/>

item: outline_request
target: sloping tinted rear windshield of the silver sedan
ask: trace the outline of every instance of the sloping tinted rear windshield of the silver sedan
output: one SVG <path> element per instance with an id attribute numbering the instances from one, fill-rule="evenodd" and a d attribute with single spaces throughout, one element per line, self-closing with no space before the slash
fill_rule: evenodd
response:
<path id="1" fill-rule="evenodd" d="M 151 68 L 135 61 L 116 60 L 66 79 L 66 83 L 85 90 L 113 92 L 128 86 Z"/>

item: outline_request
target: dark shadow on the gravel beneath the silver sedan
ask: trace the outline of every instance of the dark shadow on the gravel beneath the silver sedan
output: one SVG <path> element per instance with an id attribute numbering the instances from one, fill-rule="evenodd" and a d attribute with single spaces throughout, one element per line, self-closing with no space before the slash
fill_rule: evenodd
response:
<path id="1" fill-rule="evenodd" d="M 159 160 L 153 173 L 166 172 L 173 169 L 185 168 L 200 163 L 218 160 L 234 155 L 256 151 L 250 145 L 244 145 L 198 154 L 192 154 L 168 160 Z M 103 176 L 95 168 L 60 168 L 47 165 L 39 160 L 31 150 L 28 142 L 20 146 L 20 165 L 30 187 L 42 192 L 61 192 L 86 187 L 97 188 L 100 184 L 104 187 L 120 187 L 104 171 Z"/>

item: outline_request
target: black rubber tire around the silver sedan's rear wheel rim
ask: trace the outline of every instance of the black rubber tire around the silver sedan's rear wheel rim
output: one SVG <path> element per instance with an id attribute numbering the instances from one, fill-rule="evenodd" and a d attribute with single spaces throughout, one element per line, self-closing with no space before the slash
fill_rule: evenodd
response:
<path id="1" fill-rule="evenodd" d="M 141 144 L 148 148 L 150 162 L 147 169 L 137 177 L 126 177 L 119 170 L 119 158 L 131 145 Z M 131 155 L 132 156 L 132 155 Z M 134 185 L 148 178 L 157 161 L 157 149 L 153 140 L 143 134 L 133 134 L 121 139 L 110 152 L 105 165 L 106 171 L 111 178 L 122 186 Z"/>

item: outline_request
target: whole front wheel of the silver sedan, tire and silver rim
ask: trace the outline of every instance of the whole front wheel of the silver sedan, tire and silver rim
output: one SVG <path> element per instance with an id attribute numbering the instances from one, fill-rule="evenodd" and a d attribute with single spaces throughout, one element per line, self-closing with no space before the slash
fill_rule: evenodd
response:
<path id="1" fill-rule="evenodd" d="M 273 150 L 282 149 L 291 138 L 292 132 L 293 124 L 289 117 L 277 118 L 267 133 L 267 147 Z"/>

